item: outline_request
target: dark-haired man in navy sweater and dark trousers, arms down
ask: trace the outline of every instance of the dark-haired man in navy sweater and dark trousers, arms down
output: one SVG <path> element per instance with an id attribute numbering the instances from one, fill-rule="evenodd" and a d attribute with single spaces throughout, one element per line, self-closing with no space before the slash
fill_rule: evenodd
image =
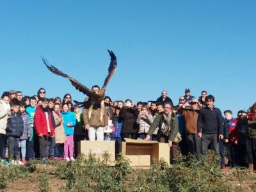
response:
<path id="1" fill-rule="evenodd" d="M 206 97 L 207 106 L 199 111 L 197 120 L 198 137 L 201 138 L 202 154 L 206 154 L 209 143 L 216 153 L 220 153 L 219 140 L 223 139 L 223 116 L 214 107 L 214 97 Z"/>

